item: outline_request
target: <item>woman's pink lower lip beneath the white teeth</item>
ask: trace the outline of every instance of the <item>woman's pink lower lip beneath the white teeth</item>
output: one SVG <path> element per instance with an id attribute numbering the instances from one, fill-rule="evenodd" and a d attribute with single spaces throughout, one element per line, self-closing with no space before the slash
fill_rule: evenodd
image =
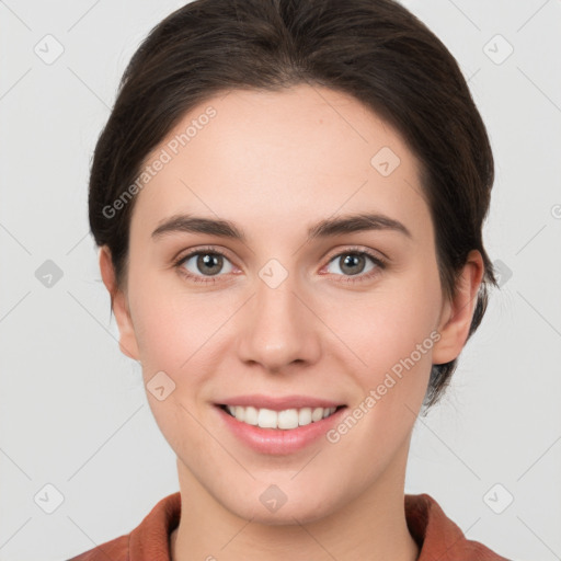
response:
<path id="1" fill-rule="evenodd" d="M 344 414 L 346 407 L 332 415 L 298 428 L 261 428 L 238 421 L 219 405 L 215 405 L 226 425 L 247 446 L 261 454 L 291 454 L 301 450 L 309 444 L 324 436 Z"/>

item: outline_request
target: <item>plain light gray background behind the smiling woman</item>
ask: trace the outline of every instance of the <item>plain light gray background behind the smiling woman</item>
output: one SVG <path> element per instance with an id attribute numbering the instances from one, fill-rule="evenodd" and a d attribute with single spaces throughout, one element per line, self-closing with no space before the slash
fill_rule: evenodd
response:
<path id="1" fill-rule="evenodd" d="M 139 366 L 119 353 L 110 321 L 87 182 L 125 64 L 182 3 L 0 1 L 1 561 L 69 558 L 130 531 L 179 489 Z M 561 2 L 404 3 L 457 57 L 488 125 L 496 181 L 484 236 L 503 271 L 444 402 L 416 424 L 405 491 L 430 493 L 502 556 L 553 561 Z M 62 273 L 50 287 L 47 260 Z M 51 514 L 57 491 L 46 484 L 64 496 Z"/>

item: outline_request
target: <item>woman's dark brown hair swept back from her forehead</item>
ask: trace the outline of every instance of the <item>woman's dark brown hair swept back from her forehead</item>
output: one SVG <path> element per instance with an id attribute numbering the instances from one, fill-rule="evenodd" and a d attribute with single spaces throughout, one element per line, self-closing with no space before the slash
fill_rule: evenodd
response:
<path id="1" fill-rule="evenodd" d="M 417 157 L 435 228 L 443 294 L 453 297 L 470 250 L 484 276 L 468 339 L 496 286 L 482 241 L 493 184 L 484 124 L 455 58 L 392 0 L 195 0 L 171 13 L 128 64 L 93 154 L 90 227 L 126 286 L 135 199 L 108 217 L 150 153 L 194 106 L 232 89 L 308 83 L 350 94 L 394 126 Z M 457 360 L 433 365 L 436 403 Z"/>

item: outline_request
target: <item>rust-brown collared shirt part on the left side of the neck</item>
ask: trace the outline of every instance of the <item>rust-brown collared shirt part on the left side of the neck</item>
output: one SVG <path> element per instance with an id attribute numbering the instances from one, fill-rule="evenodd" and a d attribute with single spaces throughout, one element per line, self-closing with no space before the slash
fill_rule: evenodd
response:
<path id="1" fill-rule="evenodd" d="M 129 534 L 94 547 L 68 561 L 169 561 L 170 534 L 181 516 L 181 495 L 164 496 Z"/>

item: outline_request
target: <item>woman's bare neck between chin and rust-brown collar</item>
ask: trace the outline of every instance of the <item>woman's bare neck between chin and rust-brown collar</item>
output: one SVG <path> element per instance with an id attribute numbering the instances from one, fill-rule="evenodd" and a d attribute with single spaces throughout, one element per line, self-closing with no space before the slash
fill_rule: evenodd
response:
<path id="1" fill-rule="evenodd" d="M 416 561 L 419 546 L 404 511 L 409 446 L 396 458 L 402 467 L 385 473 L 343 508 L 301 524 L 267 525 L 225 508 L 178 460 L 181 520 L 170 539 L 173 561 Z M 404 457 L 403 457 L 404 456 Z M 393 462 L 390 462 L 393 463 Z"/>

